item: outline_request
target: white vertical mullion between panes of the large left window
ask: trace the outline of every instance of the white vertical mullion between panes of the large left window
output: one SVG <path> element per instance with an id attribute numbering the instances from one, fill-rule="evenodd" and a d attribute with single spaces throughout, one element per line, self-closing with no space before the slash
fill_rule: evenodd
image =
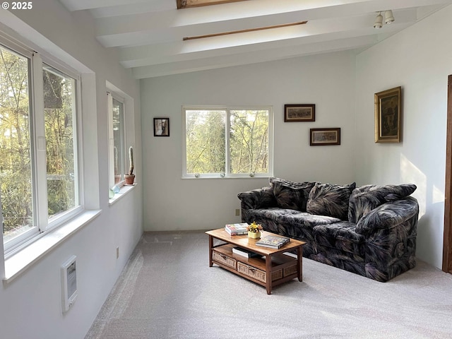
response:
<path id="1" fill-rule="evenodd" d="M 35 198 L 37 209 L 37 225 L 41 232 L 47 229 L 49 223 L 47 213 L 47 164 L 45 140 L 45 113 L 44 113 L 44 84 L 42 78 L 42 59 L 35 53 L 32 57 L 32 88 L 33 88 L 33 124 L 35 126 Z"/>

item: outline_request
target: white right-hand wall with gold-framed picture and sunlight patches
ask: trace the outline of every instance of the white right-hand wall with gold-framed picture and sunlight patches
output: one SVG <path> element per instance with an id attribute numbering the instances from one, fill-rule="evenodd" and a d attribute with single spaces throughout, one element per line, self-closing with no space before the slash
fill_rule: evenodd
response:
<path id="1" fill-rule="evenodd" d="M 444 233 L 447 78 L 452 6 L 357 57 L 359 184 L 417 185 L 417 256 L 441 268 Z M 403 142 L 374 143 L 374 93 L 402 86 Z"/>

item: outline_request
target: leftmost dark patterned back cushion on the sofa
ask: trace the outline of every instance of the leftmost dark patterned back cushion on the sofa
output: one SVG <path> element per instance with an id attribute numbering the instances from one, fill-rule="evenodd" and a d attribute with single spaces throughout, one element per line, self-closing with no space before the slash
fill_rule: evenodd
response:
<path id="1" fill-rule="evenodd" d="M 315 182 L 290 182 L 280 178 L 268 180 L 273 187 L 278 207 L 306 212 L 309 191 Z"/>

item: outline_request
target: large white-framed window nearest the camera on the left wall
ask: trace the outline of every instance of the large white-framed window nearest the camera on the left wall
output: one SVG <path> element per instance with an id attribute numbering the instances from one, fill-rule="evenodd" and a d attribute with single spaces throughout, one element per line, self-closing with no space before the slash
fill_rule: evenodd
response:
<path id="1" fill-rule="evenodd" d="M 0 44 L 0 194 L 10 251 L 81 209 L 78 77 Z"/>

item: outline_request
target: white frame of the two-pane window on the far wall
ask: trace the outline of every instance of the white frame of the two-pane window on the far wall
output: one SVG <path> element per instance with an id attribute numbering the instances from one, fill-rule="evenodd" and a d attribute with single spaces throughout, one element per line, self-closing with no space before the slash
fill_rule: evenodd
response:
<path id="1" fill-rule="evenodd" d="M 203 173 L 196 174 L 186 172 L 186 111 L 187 110 L 224 110 L 226 112 L 225 124 L 225 173 Z M 267 110 L 268 111 L 268 173 L 239 173 L 230 172 L 230 111 L 233 110 Z M 273 106 L 203 106 L 203 105 L 183 105 L 182 106 L 182 179 L 231 179 L 231 178 L 267 178 L 273 177 Z"/>

